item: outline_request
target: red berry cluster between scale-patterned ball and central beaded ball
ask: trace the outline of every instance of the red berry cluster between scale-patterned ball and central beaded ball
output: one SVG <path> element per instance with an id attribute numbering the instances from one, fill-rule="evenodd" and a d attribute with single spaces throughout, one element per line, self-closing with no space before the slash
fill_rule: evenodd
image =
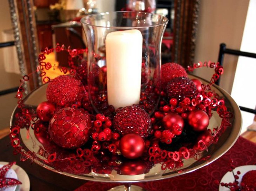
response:
<path id="1" fill-rule="evenodd" d="M 117 148 L 119 148 L 120 134 L 112 132 L 111 119 L 99 113 L 92 123 L 92 138 L 94 140 L 91 148 L 92 152 L 98 153 L 103 148 L 108 149 L 111 153 L 115 153 Z"/>

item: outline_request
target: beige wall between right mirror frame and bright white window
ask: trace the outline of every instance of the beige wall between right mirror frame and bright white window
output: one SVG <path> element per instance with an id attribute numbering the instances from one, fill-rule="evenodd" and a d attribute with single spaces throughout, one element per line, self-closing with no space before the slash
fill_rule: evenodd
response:
<path id="1" fill-rule="evenodd" d="M 201 0 L 195 62 L 217 62 L 219 45 L 240 49 L 249 0 Z M 220 86 L 231 93 L 237 57 L 225 55 Z M 196 69 L 195 75 L 210 80 L 213 69 Z"/>

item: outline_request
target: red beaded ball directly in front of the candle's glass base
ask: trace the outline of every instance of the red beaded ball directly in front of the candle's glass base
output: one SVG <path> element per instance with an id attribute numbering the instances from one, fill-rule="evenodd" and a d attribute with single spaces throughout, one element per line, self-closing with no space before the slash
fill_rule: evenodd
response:
<path id="1" fill-rule="evenodd" d="M 148 113 L 137 106 L 117 109 L 113 125 L 115 131 L 121 135 L 136 133 L 142 138 L 146 138 L 151 131 L 151 120 Z"/>

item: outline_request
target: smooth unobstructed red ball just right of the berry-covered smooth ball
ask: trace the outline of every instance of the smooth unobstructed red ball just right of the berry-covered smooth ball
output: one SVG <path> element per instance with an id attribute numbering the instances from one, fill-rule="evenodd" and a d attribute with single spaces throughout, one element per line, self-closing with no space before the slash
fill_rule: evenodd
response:
<path id="1" fill-rule="evenodd" d="M 188 123 L 194 131 L 206 131 L 209 121 L 209 116 L 203 110 L 194 110 L 188 114 Z"/>

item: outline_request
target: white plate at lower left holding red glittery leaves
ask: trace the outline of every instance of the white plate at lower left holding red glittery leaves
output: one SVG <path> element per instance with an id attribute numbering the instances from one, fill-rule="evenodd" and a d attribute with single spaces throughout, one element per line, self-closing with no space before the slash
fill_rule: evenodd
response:
<path id="1" fill-rule="evenodd" d="M 2 165 L 5 165 L 5 164 L 8 164 L 8 162 L 0 162 L 0 166 Z M 29 191 L 30 189 L 30 182 L 29 182 L 29 178 L 28 178 L 28 175 L 27 173 L 25 172 L 25 170 L 23 170 L 21 167 L 19 167 L 18 165 L 14 164 L 12 167 L 11 167 L 11 170 L 14 170 L 14 173 L 16 174 L 16 178 L 15 179 L 18 179 L 22 184 L 20 185 L 16 185 L 14 190 L 15 191 Z M 11 171 L 12 172 L 12 171 Z M 8 172 L 7 172 L 8 174 Z M 17 178 L 18 176 L 18 178 Z M 7 176 L 8 177 L 8 176 Z M 5 191 L 14 191 L 13 188 L 14 186 L 6 189 Z M 11 189 L 11 190 L 9 190 Z"/>

